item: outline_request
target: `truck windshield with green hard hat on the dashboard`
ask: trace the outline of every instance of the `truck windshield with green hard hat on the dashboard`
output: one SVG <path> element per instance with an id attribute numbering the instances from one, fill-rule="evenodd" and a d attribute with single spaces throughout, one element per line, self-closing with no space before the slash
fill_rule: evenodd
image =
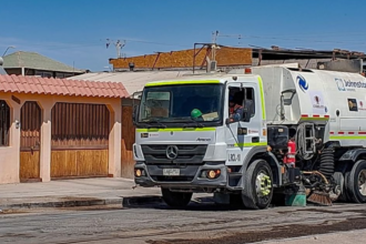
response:
<path id="1" fill-rule="evenodd" d="M 193 123 L 222 120 L 223 84 L 182 84 L 144 89 L 139 122 Z M 199 123 L 196 123 L 199 122 Z"/>

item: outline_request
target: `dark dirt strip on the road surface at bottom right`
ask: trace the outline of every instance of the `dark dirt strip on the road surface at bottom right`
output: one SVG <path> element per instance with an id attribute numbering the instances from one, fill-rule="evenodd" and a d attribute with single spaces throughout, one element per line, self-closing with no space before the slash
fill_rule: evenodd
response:
<path id="1" fill-rule="evenodd" d="M 163 240 L 148 241 L 150 244 L 237 244 L 253 243 L 270 240 L 299 237 L 305 235 L 326 234 L 366 228 L 366 217 L 348 218 L 345 221 L 326 221 L 318 225 L 294 224 L 273 227 L 265 232 L 235 233 L 220 238 L 205 240 Z"/>

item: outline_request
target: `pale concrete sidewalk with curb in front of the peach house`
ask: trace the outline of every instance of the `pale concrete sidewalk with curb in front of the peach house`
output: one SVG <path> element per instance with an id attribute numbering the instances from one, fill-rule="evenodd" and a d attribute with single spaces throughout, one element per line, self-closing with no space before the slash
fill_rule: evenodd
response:
<path id="1" fill-rule="evenodd" d="M 161 202 L 159 187 L 133 189 L 126 179 L 96 177 L 0 185 L 0 210 Z"/>

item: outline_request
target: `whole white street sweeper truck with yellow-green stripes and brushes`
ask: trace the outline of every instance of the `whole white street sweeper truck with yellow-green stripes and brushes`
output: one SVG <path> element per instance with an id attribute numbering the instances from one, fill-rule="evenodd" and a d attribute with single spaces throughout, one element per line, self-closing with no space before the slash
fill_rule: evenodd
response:
<path id="1" fill-rule="evenodd" d="M 153 81 L 133 121 L 135 183 L 172 207 L 193 193 L 248 209 L 366 202 L 359 73 L 284 64 Z"/>

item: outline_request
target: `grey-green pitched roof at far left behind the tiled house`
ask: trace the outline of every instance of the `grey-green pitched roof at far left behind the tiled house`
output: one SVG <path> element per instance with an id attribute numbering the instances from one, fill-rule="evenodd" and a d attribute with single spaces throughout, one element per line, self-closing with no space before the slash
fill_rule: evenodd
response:
<path id="1" fill-rule="evenodd" d="M 37 52 L 13 52 L 3 57 L 3 68 L 28 68 L 44 71 L 84 73 L 84 70 L 74 69 L 53 59 L 41 55 Z"/>

